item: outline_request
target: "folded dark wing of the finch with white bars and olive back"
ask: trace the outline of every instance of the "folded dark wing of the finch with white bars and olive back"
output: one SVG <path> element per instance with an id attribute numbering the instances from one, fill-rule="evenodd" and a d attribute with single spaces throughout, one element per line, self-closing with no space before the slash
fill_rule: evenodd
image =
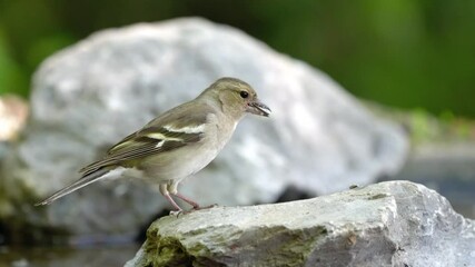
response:
<path id="1" fill-rule="evenodd" d="M 125 165 L 160 152 L 171 151 L 202 139 L 207 117 L 212 110 L 206 106 L 181 105 L 147 123 L 112 146 L 106 157 L 80 170 L 83 176 L 106 166 Z"/>

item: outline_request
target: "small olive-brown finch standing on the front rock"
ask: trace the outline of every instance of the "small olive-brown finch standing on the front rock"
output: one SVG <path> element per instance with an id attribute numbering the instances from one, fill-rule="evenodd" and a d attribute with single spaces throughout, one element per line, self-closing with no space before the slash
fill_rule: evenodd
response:
<path id="1" fill-rule="evenodd" d="M 178 192 L 185 178 L 211 162 L 231 138 L 246 113 L 268 117 L 270 109 L 247 82 L 222 77 L 195 99 L 152 119 L 141 129 L 110 147 L 105 157 L 79 170 L 81 177 L 36 206 L 50 205 L 95 181 L 111 177 L 144 179 L 175 208 L 172 197 L 200 209 L 198 202 Z"/>

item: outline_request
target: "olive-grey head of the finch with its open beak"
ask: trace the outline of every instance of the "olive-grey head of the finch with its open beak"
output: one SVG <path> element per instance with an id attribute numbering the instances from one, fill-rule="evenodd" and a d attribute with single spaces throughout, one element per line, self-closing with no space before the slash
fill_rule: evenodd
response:
<path id="1" fill-rule="evenodd" d="M 236 78 L 220 78 L 201 95 L 217 100 L 225 113 L 241 117 L 249 112 L 268 117 L 270 109 L 259 101 L 256 91 L 248 83 Z"/>

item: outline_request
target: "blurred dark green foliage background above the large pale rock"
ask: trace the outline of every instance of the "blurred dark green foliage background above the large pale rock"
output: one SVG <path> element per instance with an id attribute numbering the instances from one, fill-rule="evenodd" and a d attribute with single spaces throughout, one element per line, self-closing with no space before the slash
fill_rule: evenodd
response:
<path id="1" fill-rule="evenodd" d="M 0 0 L 0 93 L 28 96 L 46 57 L 97 30 L 184 16 L 240 28 L 358 97 L 475 117 L 466 0 Z"/>

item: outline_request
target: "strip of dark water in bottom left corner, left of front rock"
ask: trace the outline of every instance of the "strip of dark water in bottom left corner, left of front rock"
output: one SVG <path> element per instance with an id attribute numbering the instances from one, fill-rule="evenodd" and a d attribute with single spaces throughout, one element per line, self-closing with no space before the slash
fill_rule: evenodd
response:
<path id="1" fill-rule="evenodd" d="M 0 247 L 0 267 L 108 267 L 123 266 L 133 258 L 139 244 L 120 246 L 70 247 Z"/>

